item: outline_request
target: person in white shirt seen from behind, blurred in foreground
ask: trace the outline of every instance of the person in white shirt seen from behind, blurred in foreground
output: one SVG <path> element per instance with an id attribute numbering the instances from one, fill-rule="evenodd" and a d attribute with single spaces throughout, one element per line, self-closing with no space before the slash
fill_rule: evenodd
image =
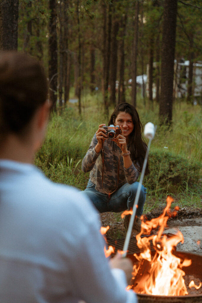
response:
<path id="1" fill-rule="evenodd" d="M 48 123 L 47 92 L 38 61 L 0 53 L 0 301 L 136 303 L 125 290 L 131 262 L 105 258 L 92 203 L 32 164 Z"/>

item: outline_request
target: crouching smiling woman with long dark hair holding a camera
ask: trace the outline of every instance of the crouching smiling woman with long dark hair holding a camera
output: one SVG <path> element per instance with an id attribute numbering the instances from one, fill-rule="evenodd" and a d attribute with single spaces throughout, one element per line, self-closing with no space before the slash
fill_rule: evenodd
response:
<path id="1" fill-rule="evenodd" d="M 99 125 L 82 161 L 82 170 L 90 171 L 90 179 L 82 195 L 84 193 L 88 196 L 99 212 L 120 212 L 133 207 L 138 187 L 137 178 L 147 151 L 141 134 L 139 115 L 134 106 L 126 102 L 116 106 L 108 127 L 105 124 Z M 147 163 L 146 174 L 148 173 Z M 145 199 L 146 188 L 142 185 L 133 236 L 141 230 L 139 217 Z M 126 228 L 128 223 L 129 216 L 126 216 Z"/>

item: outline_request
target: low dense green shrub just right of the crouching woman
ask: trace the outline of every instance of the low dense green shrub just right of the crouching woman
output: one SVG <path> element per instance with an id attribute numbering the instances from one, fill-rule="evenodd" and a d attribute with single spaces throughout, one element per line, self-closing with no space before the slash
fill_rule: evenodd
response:
<path id="1" fill-rule="evenodd" d="M 177 194 L 179 190 L 194 189 L 199 183 L 200 162 L 190 162 L 182 155 L 167 150 L 150 151 L 150 175 L 144 177 L 147 191 Z"/>

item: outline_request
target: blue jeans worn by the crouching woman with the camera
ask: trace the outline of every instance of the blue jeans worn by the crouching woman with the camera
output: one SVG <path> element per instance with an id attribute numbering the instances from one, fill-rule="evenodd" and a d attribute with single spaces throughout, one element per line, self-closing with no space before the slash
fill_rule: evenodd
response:
<path id="1" fill-rule="evenodd" d="M 107 211 L 121 212 L 133 208 L 138 184 L 138 182 L 126 183 L 112 195 L 107 195 L 97 191 L 95 184 L 89 180 L 86 189 L 82 193 L 90 198 L 100 213 Z M 146 193 L 147 189 L 142 185 L 136 211 L 137 216 L 141 216 L 143 213 Z"/>

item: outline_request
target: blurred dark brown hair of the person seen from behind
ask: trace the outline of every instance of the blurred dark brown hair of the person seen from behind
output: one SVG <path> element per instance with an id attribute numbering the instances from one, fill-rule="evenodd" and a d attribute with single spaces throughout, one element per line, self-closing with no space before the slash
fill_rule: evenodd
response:
<path id="1" fill-rule="evenodd" d="M 0 52 L 0 139 L 25 131 L 47 94 L 47 78 L 36 59 L 15 51 Z"/>

